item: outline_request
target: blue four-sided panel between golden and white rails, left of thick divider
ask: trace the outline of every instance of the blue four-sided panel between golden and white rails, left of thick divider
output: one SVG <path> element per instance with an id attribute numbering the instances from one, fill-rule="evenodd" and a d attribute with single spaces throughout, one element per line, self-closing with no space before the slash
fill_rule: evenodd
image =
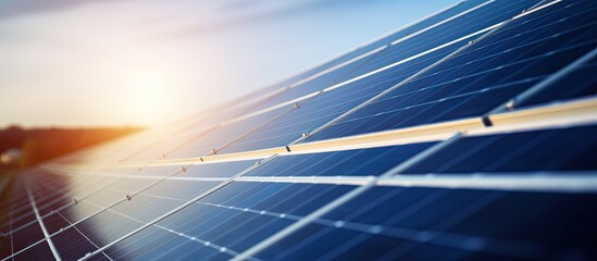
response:
<path id="1" fill-rule="evenodd" d="M 245 176 L 371 176 L 384 174 L 434 142 L 283 156 Z"/>

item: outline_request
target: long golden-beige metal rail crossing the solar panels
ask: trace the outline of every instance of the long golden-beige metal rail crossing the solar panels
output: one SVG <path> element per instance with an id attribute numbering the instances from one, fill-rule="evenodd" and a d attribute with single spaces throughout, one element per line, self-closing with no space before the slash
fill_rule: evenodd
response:
<path id="1" fill-rule="evenodd" d="M 167 159 L 156 161 L 104 162 L 97 164 L 53 164 L 47 166 L 67 169 L 105 167 L 128 169 L 138 166 L 196 165 L 217 162 L 260 160 L 273 154 L 303 154 L 315 152 L 341 151 L 416 142 L 438 141 L 449 138 L 456 132 L 467 135 L 489 135 L 498 132 L 523 132 L 547 129 L 559 126 L 575 126 L 597 123 L 597 97 L 576 99 L 560 103 L 550 103 L 527 109 L 500 112 L 488 115 L 493 126 L 483 124 L 483 117 L 461 119 L 433 123 L 422 126 L 390 129 L 384 132 L 353 135 L 348 137 L 295 144 L 260 150 L 206 156 L 200 158 Z"/>

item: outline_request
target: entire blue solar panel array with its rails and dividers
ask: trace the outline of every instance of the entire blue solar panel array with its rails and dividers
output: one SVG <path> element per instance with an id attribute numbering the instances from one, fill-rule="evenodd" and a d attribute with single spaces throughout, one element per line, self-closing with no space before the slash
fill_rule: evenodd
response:
<path id="1" fill-rule="evenodd" d="M 3 260 L 597 259 L 597 2 L 469 0 L 21 173 Z"/>

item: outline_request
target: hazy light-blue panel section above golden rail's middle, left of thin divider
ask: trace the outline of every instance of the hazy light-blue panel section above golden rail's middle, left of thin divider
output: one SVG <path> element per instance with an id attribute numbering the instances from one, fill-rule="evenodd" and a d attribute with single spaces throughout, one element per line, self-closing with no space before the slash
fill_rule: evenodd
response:
<path id="1" fill-rule="evenodd" d="M 273 121 L 234 144 L 228 145 L 222 149 L 222 152 L 289 145 L 297 140 L 302 133 L 308 133 L 322 126 L 463 45 L 465 45 L 465 41 L 446 47 L 338 89 L 323 92 L 315 98 L 302 102 L 298 110 L 294 110 L 284 117 Z"/>

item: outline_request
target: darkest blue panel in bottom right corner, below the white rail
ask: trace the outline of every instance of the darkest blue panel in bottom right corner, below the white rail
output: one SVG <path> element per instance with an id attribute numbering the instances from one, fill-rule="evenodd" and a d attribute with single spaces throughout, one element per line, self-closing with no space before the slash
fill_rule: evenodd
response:
<path id="1" fill-rule="evenodd" d="M 597 196 L 375 187 L 262 260 L 592 260 Z"/>

